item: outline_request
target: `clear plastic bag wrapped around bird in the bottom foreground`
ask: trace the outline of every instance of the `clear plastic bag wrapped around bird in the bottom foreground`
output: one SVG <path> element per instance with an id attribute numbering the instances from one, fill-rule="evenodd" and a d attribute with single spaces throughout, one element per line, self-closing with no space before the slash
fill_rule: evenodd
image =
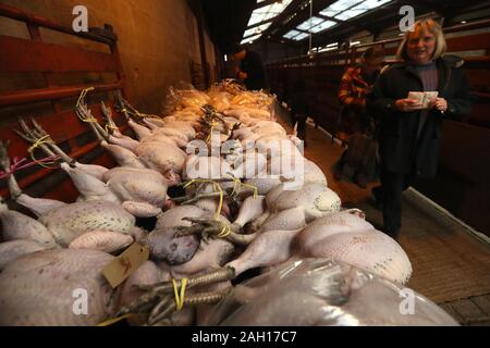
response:
<path id="1" fill-rule="evenodd" d="M 238 284 L 204 325 L 458 325 L 412 289 L 326 259 L 286 262 Z"/>

